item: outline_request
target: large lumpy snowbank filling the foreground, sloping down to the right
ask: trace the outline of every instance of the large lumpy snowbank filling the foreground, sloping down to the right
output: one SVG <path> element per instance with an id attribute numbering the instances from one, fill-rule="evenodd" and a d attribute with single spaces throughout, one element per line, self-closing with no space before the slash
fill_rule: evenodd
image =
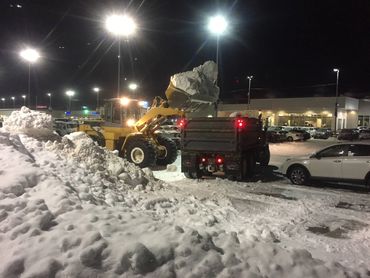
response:
<path id="1" fill-rule="evenodd" d="M 84 134 L 0 131 L 0 153 L 0 277 L 366 276 L 246 236 L 227 199 L 183 194 Z"/>

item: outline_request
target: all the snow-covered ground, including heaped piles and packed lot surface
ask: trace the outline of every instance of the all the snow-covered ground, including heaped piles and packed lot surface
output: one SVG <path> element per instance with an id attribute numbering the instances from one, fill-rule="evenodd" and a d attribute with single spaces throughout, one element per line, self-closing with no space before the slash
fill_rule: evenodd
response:
<path id="1" fill-rule="evenodd" d="M 369 194 L 272 166 L 243 183 L 141 170 L 50 121 L 22 108 L 0 129 L 0 277 L 370 275 Z M 272 145 L 272 164 L 326 144 Z"/>

